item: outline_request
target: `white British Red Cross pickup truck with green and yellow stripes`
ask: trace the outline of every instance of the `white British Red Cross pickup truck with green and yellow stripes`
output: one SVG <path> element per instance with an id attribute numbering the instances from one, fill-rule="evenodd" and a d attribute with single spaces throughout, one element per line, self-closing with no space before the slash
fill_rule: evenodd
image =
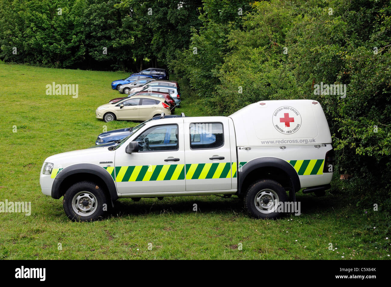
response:
<path id="1" fill-rule="evenodd" d="M 295 193 L 324 193 L 331 135 L 313 100 L 260 101 L 231 116 L 146 121 L 110 147 L 45 159 L 42 192 L 64 196 L 72 220 L 96 220 L 120 198 L 238 195 L 256 218 L 276 218 Z"/>

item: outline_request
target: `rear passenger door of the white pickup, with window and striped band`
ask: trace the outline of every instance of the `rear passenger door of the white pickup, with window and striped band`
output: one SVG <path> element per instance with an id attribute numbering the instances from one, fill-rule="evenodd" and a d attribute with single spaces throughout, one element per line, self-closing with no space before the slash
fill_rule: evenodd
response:
<path id="1" fill-rule="evenodd" d="M 186 191 L 231 190 L 228 119 L 219 120 L 184 119 Z"/>

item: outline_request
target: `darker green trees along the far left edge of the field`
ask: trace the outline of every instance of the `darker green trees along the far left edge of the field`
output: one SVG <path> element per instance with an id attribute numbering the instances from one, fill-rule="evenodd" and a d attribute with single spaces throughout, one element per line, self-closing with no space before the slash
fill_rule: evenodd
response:
<path id="1" fill-rule="evenodd" d="M 0 59 L 82 69 L 165 67 L 187 47 L 190 28 L 199 27 L 200 6 L 193 0 L 0 0 Z"/>

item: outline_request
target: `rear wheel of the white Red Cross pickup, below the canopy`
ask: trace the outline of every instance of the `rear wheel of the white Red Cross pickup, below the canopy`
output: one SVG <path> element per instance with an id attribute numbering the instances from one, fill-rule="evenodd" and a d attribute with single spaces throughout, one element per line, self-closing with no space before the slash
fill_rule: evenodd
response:
<path id="1" fill-rule="evenodd" d="M 281 184 L 271 179 L 262 179 L 247 189 L 244 207 L 255 218 L 275 219 L 282 215 L 282 212 L 278 212 L 279 202 L 287 200 L 287 193 Z"/>

